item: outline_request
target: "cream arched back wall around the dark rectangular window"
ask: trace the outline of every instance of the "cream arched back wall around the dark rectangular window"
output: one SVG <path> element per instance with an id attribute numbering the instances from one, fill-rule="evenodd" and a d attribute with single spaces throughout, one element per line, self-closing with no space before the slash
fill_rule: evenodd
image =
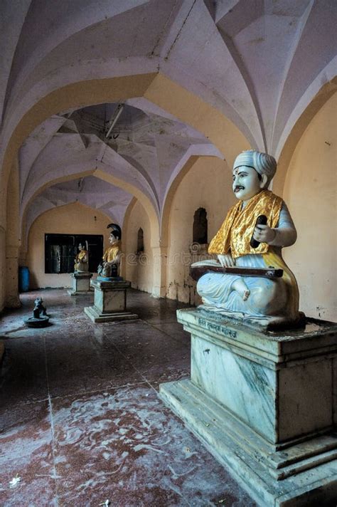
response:
<path id="1" fill-rule="evenodd" d="M 31 274 L 31 288 L 70 286 L 69 273 L 45 273 L 45 234 L 103 234 L 106 248 L 109 245 L 107 224 L 107 215 L 78 202 L 38 216 L 28 234 L 26 265 Z"/>

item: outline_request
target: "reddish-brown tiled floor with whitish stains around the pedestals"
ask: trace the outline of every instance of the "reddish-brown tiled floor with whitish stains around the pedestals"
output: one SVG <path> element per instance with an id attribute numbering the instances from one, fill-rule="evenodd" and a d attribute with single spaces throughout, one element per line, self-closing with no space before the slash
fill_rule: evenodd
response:
<path id="1" fill-rule="evenodd" d="M 52 323 L 41 330 L 23 325 L 37 296 Z M 139 320 L 94 324 L 92 295 L 21 300 L 0 330 L 1 507 L 255 506 L 158 397 L 189 375 L 181 303 L 129 291 Z"/>

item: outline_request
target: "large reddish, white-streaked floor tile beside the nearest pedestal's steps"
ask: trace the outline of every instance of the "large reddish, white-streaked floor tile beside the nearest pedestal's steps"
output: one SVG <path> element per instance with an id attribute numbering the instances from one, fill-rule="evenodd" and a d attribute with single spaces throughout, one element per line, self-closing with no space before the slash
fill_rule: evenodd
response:
<path id="1" fill-rule="evenodd" d="M 233 498 L 249 501 L 144 385 L 56 399 L 53 421 L 61 501 L 109 498 L 121 507 L 214 505 L 217 493 L 221 498 L 225 494 L 224 480 Z"/>

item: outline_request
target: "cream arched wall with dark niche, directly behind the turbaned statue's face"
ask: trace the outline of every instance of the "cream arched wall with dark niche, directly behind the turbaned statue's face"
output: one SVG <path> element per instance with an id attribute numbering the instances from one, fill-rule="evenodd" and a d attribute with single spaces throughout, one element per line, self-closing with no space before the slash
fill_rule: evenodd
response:
<path id="1" fill-rule="evenodd" d="M 223 223 L 228 208 L 235 202 L 232 175 L 228 164 L 216 157 L 200 157 L 183 178 L 173 197 L 169 221 L 168 276 L 166 296 L 185 303 L 199 304 L 196 282 L 189 276 L 193 242 L 193 216 L 205 208 L 208 242 Z"/>

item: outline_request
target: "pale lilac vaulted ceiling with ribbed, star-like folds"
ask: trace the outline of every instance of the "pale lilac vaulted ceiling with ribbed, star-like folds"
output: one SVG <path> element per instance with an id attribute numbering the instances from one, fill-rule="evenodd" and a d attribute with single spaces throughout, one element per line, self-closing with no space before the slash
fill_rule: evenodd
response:
<path id="1" fill-rule="evenodd" d="M 334 0 L 5 0 L 2 11 L 3 154 L 48 93 L 79 81 L 162 73 L 225 115 L 252 147 L 278 157 L 296 120 L 336 75 Z M 109 136 L 118 103 L 97 104 L 95 96 L 28 134 L 18 152 L 28 226 L 76 200 L 122 223 L 132 195 L 116 181 L 139 189 L 160 216 L 191 155 L 226 157 L 146 98 L 120 103 Z M 100 171 L 111 179 L 100 179 Z"/>

